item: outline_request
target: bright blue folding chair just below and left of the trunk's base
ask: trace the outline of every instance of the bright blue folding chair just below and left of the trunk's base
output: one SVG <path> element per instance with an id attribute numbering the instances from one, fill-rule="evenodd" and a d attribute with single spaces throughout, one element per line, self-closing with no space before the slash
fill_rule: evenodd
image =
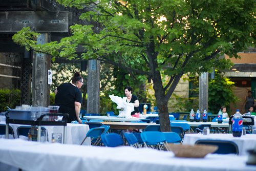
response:
<path id="1" fill-rule="evenodd" d="M 144 131 L 140 134 L 144 145 L 154 147 L 161 150 L 161 144 L 165 146 L 166 138 L 162 132 L 158 131 Z M 165 146 L 166 147 L 166 146 Z"/>

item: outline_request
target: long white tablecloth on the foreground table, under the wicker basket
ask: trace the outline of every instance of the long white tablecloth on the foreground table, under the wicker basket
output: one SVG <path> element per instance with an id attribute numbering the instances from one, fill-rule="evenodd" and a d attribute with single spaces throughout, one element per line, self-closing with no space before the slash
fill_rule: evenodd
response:
<path id="1" fill-rule="evenodd" d="M 255 166 L 245 164 L 247 156 L 176 158 L 172 152 L 151 148 L 44 144 L 20 139 L 0 139 L 0 144 L 0 162 L 25 170 L 255 171 Z"/>

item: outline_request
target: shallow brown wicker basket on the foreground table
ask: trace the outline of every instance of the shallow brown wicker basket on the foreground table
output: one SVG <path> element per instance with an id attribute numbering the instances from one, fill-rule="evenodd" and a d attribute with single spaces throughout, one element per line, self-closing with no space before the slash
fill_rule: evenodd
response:
<path id="1" fill-rule="evenodd" d="M 203 158 L 218 149 L 217 145 L 183 145 L 167 144 L 168 151 L 172 151 L 176 157 Z"/>

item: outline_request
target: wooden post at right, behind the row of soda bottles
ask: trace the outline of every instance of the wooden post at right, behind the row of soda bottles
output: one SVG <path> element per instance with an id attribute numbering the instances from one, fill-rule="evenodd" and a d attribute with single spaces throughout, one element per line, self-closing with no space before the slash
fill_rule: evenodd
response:
<path id="1" fill-rule="evenodd" d="M 199 110 L 202 113 L 204 109 L 208 111 L 208 72 L 199 76 Z"/>

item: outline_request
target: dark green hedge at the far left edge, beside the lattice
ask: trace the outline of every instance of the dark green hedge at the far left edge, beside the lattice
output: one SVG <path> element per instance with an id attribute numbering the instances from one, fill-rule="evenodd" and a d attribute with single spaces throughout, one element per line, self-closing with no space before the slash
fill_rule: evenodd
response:
<path id="1" fill-rule="evenodd" d="M 0 111 L 7 111 L 6 106 L 15 109 L 16 105 L 20 105 L 20 90 L 0 89 Z"/>

